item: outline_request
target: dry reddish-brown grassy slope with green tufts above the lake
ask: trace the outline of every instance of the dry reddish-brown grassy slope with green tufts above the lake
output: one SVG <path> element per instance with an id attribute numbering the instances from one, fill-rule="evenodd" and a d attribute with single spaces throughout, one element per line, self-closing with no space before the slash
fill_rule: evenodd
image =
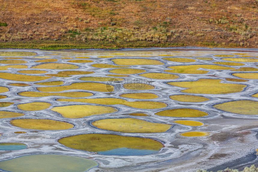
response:
<path id="1" fill-rule="evenodd" d="M 0 0 L 1 48 L 258 47 L 258 0 Z"/>

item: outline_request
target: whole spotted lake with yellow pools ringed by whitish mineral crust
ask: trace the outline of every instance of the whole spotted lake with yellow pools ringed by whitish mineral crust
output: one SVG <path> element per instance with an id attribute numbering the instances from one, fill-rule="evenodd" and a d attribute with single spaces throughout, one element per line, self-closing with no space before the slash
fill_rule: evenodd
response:
<path id="1" fill-rule="evenodd" d="M 258 50 L 0 50 L 0 171 L 258 164 Z"/>

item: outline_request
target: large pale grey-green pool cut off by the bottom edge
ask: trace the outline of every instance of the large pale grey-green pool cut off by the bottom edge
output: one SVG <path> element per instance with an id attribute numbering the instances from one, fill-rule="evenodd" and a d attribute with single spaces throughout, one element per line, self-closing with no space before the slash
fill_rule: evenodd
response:
<path id="1" fill-rule="evenodd" d="M 98 163 L 68 155 L 34 154 L 0 161 L 0 169 L 9 172 L 85 172 Z"/>

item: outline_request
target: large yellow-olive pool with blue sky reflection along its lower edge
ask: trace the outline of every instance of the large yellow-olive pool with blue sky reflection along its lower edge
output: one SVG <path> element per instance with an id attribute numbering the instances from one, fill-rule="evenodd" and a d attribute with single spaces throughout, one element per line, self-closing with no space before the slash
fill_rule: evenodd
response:
<path id="1" fill-rule="evenodd" d="M 103 155 L 147 155 L 164 147 L 161 142 L 149 138 L 115 134 L 81 134 L 61 138 L 58 142 L 73 149 Z"/>

